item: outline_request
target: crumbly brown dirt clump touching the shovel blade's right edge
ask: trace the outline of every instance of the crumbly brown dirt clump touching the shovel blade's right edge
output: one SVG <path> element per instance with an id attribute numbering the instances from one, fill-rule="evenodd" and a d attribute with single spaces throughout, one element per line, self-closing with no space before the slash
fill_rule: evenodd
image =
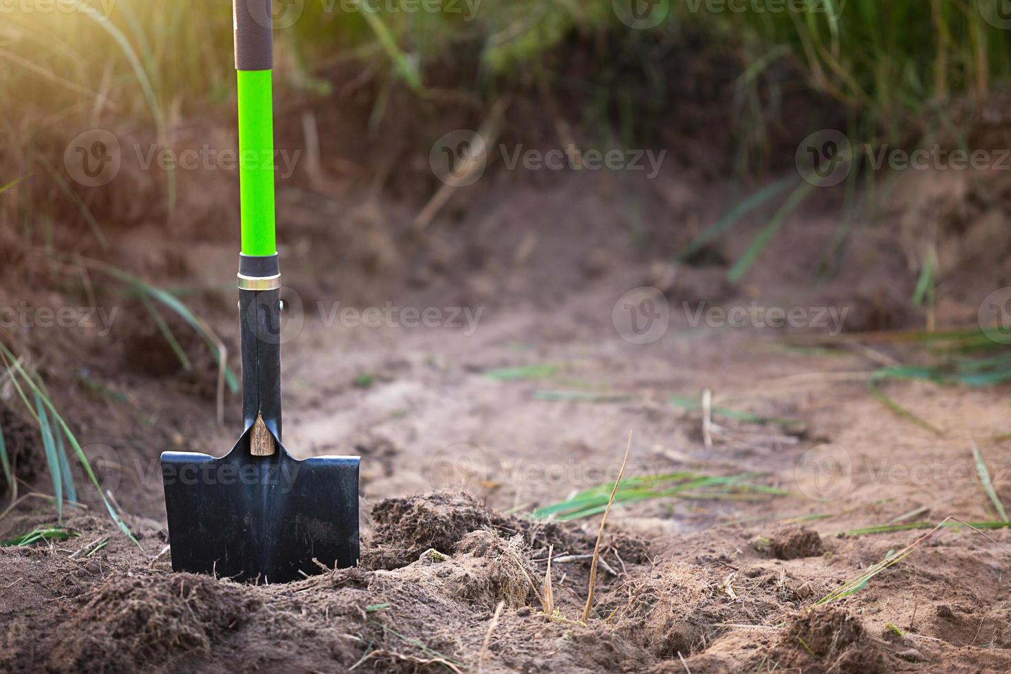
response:
<path id="1" fill-rule="evenodd" d="M 372 508 L 375 532 L 362 555 L 367 569 L 396 569 L 426 550 L 453 552 L 467 534 L 491 524 L 491 513 L 464 492 L 388 498 Z"/>

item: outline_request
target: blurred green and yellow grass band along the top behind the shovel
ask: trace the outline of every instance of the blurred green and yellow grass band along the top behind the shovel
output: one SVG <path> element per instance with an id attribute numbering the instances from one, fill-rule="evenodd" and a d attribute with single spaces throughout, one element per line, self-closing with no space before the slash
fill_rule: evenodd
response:
<path id="1" fill-rule="evenodd" d="M 427 101 L 453 95 L 486 104 L 512 88 L 574 88 L 592 102 L 574 122 L 634 135 L 675 102 L 665 97 L 672 73 L 717 61 L 736 68 L 736 132 L 751 150 L 798 88 L 837 102 L 860 137 L 908 143 L 954 130 L 951 111 L 983 103 L 1007 77 L 1007 32 L 985 18 L 999 1 L 810 0 L 803 12 L 770 11 L 775 0 L 678 1 L 656 27 L 633 29 L 612 0 L 444 0 L 440 12 L 406 11 L 420 6 L 412 0 L 290 0 L 276 6 L 279 25 L 299 16 L 277 30 L 277 79 L 283 106 L 333 95 L 328 73 L 352 64 L 374 85 L 373 126 L 398 89 L 424 114 Z M 34 170 L 28 149 L 68 128 L 112 119 L 170 142 L 183 118 L 232 112 L 226 0 L 41 5 L 12 5 L 0 23 L 9 180 Z M 728 5 L 744 11 L 712 11 Z M 652 96 L 633 89 L 643 83 Z"/>

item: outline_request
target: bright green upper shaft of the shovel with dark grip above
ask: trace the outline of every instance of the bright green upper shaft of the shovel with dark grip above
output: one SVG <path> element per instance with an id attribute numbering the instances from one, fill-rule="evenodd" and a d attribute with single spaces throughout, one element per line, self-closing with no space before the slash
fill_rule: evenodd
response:
<path id="1" fill-rule="evenodd" d="M 270 0 L 234 0 L 243 255 L 277 253 Z"/>

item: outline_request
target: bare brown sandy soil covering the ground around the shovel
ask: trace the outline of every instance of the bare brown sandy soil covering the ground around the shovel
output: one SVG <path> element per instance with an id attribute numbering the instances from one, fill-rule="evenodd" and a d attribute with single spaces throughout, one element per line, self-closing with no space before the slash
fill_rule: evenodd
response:
<path id="1" fill-rule="evenodd" d="M 239 401 L 226 396 L 218 425 L 216 371 L 200 341 L 171 323 L 187 335 L 187 371 L 143 306 L 99 290 L 122 308 L 121 324 L 103 340 L 78 328 L 56 334 L 59 348 L 34 364 L 137 543 L 75 468 L 83 503 L 65 505 L 64 524 L 76 538 L 0 548 L 0 669 L 1011 670 L 1007 531 L 941 529 L 859 591 L 816 605 L 923 534 L 845 532 L 993 517 L 974 441 L 1011 503 L 1008 387 L 883 385 L 931 430 L 867 390 L 883 362 L 915 362 L 919 352 L 849 339 L 923 326 L 908 299 L 909 242 L 919 235 L 906 215 L 912 196 L 904 202 L 900 190 L 894 217 L 854 225 L 825 277 L 818 272 L 839 203 L 826 192 L 735 288 L 725 282 L 728 261 L 749 235 L 727 237 L 695 266 L 669 262 L 672 240 L 690 238 L 729 202 L 729 188 L 707 175 L 670 165 L 654 181 L 489 176 L 425 231 L 411 224 L 409 202 L 280 192 L 293 326 L 285 445 L 299 458 L 362 457 L 359 568 L 259 586 L 172 573 L 159 454 L 222 455 Z M 931 214 L 943 279 L 938 324 L 973 324 L 982 298 L 1008 282 L 973 270 L 993 253 L 984 242 L 1003 192 L 990 176 L 935 178 L 966 183 L 947 185 Z M 153 240 L 161 253 L 150 253 Z M 185 285 L 188 303 L 235 345 L 235 242 L 194 247 L 150 225 L 119 246 L 123 259 L 149 251 L 133 269 Z M 183 250 L 187 264 L 176 265 Z M 620 298 L 640 286 L 662 291 L 671 308 L 666 332 L 648 345 L 624 339 L 615 318 Z M 446 318 L 453 307 L 470 313 L 453 313 L 452 325 L 370 327 L 334 312 L 387 302 L 438 307 Z M 841 335 L 693 324 L 700 306 L 752 303 L 848 312 Z M 833 348 L 797 346 L 812 332 Z M 712 423 L 671 401 L 707 389 Z M 2 400 L 17 472 L 44 492 L 41 448 L 11 411 L 16 393 L 5 389 Z M 599 515 L 550 523 L 523 515 L 613 481 L 630 431 L 628 478 L 748 473 L 764 491 L 616 506 L 583 622 Z M 0 538 L 55 517 L 44 499 L 26 497 L 0 518 Z"/>

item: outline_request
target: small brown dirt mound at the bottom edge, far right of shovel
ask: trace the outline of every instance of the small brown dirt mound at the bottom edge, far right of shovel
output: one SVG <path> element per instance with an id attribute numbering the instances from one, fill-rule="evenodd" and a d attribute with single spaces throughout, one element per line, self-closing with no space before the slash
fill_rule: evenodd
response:
<path id="1" fill-rule="evenodd" d="M 790 627 L 775 649 L 787 667 L 827 674 L 876 674 L 892 671 L 888 658 L 852 613 L 816 608 Z"/>

